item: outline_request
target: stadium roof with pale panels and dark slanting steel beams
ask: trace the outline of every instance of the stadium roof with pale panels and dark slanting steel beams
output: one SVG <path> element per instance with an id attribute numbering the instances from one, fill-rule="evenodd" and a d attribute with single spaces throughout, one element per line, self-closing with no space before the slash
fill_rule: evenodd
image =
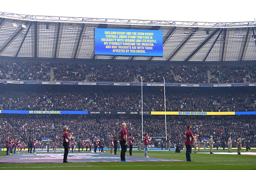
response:
<path id="1" fill-rule="evenodd" d="M 163 56 L 94 55 L 94 28 L 162 30 Z M 0 58 L 256 61 L 256 23 L 22 15 L 0 12 Z"/>

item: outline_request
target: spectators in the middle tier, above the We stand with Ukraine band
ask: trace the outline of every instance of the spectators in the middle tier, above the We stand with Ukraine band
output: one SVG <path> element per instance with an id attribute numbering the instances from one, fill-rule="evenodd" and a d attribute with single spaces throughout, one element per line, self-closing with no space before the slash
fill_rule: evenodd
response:
<path id="1" fill-rule="evenodd" d="M 164 97 L 166 102 L 164 102 Z M 1 85 L 5 110 L 66 111 L 256 111 L 253 87 L 185 88 Z M 166 107 L 165 107 L 166 106 Z"/>

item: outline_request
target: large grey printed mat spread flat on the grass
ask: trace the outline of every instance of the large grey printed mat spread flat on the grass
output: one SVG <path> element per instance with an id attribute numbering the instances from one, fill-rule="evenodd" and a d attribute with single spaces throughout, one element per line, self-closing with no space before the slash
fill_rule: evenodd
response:
<path id="1" fill-rule="evenodd" d="M 0 157 L 0 163 L 62 163 L 64 153 L 18 153 Z M 149 155 L 150 156 L 150 155 Z M 170 162 L 181 161 L 161 158 L 145 158 L 138 156 L 125 156 L 125 160 L 129 162 Z M 69 153 L 68 161 L 72 163 L 78 162 L 120 162 L 120 155 L 102 154 L 102 153 Z"/>

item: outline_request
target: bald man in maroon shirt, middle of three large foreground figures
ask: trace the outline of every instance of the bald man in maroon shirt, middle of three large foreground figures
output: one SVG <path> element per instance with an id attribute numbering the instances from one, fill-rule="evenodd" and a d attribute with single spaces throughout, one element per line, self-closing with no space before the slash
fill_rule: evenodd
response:
<path id="1" fill-rule="evenodd" d="M 121 146 L 121 162 L 128 162 L 125 161 L 125 152 L 127 151 L 127 140 L 128 140 L 128 132 L 126 130 L 126 124 L 122 123 L 122 127 L 119 131 L 119 143 Z"/>

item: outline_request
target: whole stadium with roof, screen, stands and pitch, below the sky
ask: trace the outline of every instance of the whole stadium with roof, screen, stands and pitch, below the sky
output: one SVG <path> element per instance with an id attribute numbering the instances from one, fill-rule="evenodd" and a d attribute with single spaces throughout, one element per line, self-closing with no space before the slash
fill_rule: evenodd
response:
<path id="1" fill-rule="evenodd" d="M 0 167 L 255 169 L 255 31 L 255 21 L 0 12 Z M 111 136 L 119 139 L 122 123 L 134 137 L 128 164 L 120 162 L 119 145 L 117 155 L 110 154 Z M 187 125 L 199 135 L 193 163 L 185 155 Z M 75 144 L 71 163 L 63 165 L 65 126 Z M 152 138 L 150 158 L 145 133 Z M 8 137 L 15 151 L 7 156 Z M 104 152 L 87 152 L 85 143 L 95 137 L 103 139 Z"/>

